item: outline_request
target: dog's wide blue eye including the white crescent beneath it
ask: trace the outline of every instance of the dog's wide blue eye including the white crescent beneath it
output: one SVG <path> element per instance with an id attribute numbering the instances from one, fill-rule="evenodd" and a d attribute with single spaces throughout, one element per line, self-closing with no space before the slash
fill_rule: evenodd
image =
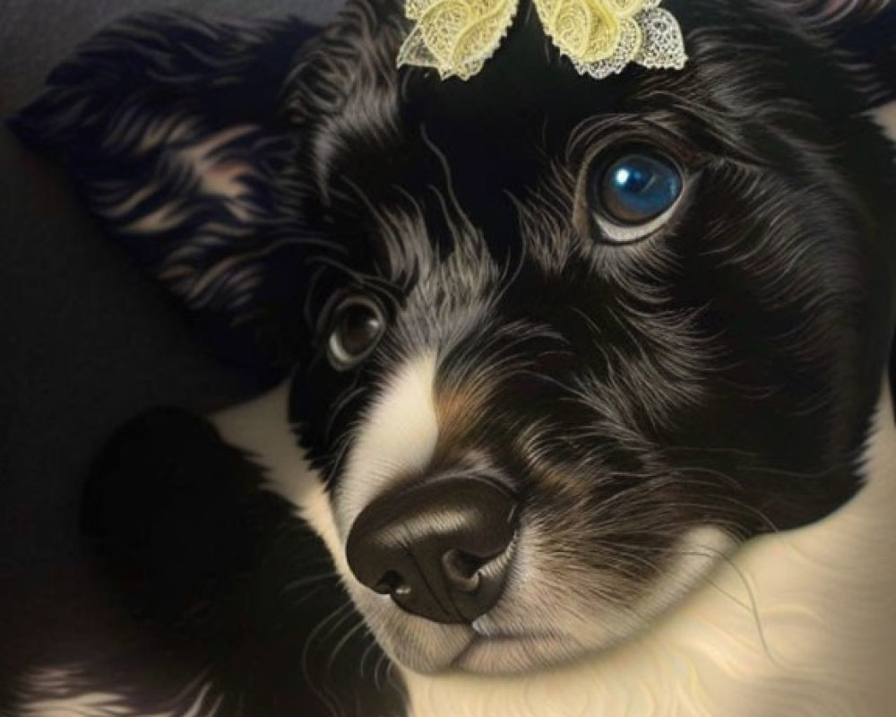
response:
<path id="1" fill-rule="evenodd" d="M 651 147 L 600 157 L 590 169 L 589 204 L 602 233 L 626 243 L 645 238 L 672 215 L 685 192 L 676 162 Z"/>

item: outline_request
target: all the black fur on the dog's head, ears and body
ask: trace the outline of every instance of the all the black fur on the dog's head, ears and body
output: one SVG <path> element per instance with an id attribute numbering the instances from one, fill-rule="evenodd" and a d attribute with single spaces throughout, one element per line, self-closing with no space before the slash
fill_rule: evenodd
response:
<path id="1" fill-rule="evenodd" d="M 487 410 L 432 470 L 486 450 L 527 509 L 567 519 L 557 540 L 590 568 L 601 552 L 582 505 L 632 492 L 603 537 L 637 551 L 618 596 L 631 600 L 688 526 L 748 540 L 861 488 L 896 322 L 894 158 L 862 115 L 893 95 L 893 9 L 833 27 L 771 0 L 665 6 L 685 29 L 685 71 L 601 82 L 525 10 L 470 82 L 395 70 L 407 25 L 392 2 L 353 3 L 307 42 L 298 22 L 152 15 L 92 40 L 13 126 L 65 156 L 222 356 L 260 385 L 295 367 L 297 440 L 330 486 L 401 358 L 438 350 L 437 392 L 491 370 Z M 185 134 L 137 151 L 153 123 L 184 118 Z M 253 172 L 237 201 L 177 164 L 235 125 L 246 134 L 214 159 Z M 692 192 L 658 235 L 611 246 L 574 219 L 577 183 L 601 147 L 634 141 L 675 156 Z M 173 200 L 171 226 L 134 231 Z M 392 323 L 373 358 L 340 373 L 326 317 L 351 292 L 379 298 Z M 572 466 L 559 497 L 514 445 L 546 416 L 545 460 Z M 353 676 L 360 663 L 357 684 L 338 679 L 326 636 L 303 654 L 345 597 L 335 580 L 322 583 L 332 603 L 283 597 L 327 558 L 259 480 L 181 414 L 125 428 L 100 460 L 90 531 L 159 651 L 181 661 L 134 704 L 168 704 L 205 667 L 220 714 L 398 710 L 400 687 L 366 673 L 364 639 L 339 655 Z M 302 663 L 331 674 L 303 677 Z"/>

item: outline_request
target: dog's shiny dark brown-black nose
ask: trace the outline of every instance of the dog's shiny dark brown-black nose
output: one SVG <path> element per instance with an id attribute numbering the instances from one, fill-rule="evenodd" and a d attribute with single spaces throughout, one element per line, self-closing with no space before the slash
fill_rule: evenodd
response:
<path id="1" fill-rule="evenodd" d="M 516 501 L 492 480 L 452 476 L 377 498 L 346 547 L 361 583 L 421 618 L 472 622 L 504 590 Z"/>

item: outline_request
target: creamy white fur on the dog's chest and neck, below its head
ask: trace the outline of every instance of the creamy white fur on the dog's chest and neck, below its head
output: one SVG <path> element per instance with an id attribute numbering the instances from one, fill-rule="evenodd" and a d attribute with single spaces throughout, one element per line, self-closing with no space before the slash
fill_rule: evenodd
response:
<path id="1" fill-rule="evenodd" d="M 319 489 L 300 475 L 282 428 L 259 421 L 280 401 L 272 396 L 218 424 L 229 439 L 254 444 L 271 466 L 272 487 L 308 514 Z M 246 441 L 252 432 L 262 445 Z M 268 462 L 280 451 L 292 460 Z M 886 387 L 866 476 L 866 488 L 840 511 L 755 540 L 664 624 L 624 648 L 519 678 L 406 672 L 410 713 L 889 717 L 896 705 L 896 426 Z"/>

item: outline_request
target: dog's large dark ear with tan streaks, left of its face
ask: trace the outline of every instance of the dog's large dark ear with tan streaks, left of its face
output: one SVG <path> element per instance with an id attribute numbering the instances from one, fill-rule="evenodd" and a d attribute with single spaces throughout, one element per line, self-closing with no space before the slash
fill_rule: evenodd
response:
<path id="1" fill-rule="evenodd" d="M 109 233 L 231 363 L 289 369 L 307 236 L 281 88 L 317 29 L 152 13 L 90 39 L 10 125 L 64 160 Z M 277 272 L 268 271 L 277 266 Z"/>

